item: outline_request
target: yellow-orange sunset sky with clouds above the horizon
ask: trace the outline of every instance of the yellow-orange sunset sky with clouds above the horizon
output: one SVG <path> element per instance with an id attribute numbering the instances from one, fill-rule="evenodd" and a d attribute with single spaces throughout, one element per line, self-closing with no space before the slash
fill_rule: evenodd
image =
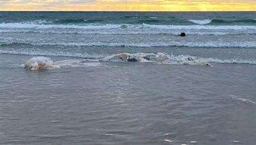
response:
<path id="1" fill-rule="evenodd" d="M 0 11 L 256 11 L 256 0 L 0 0 Z"/>

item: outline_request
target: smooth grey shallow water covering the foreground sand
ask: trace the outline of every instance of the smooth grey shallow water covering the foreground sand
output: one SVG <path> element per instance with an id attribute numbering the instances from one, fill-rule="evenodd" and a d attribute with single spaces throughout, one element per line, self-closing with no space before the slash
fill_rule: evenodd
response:
<path id="1" fill-rule="evenodd" d="M 255 65 L 27 71 L 30 58 L 0 55 L 1 144 L 255 144 Z"/>

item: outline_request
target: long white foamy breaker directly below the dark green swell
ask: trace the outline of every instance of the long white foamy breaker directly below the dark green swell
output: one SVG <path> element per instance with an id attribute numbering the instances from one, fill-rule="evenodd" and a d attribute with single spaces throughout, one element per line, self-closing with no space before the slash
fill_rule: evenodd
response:
<path id="1" fill-rule="evenodd" d="M 154 24 L 83 24 L 56 25 L 35 23 L 1 23 L 0 29 L 132 29 L 134 31 L 152 30 L 256 30 L 255 25 L 154 25 Z M 157 30 L 156 30 L 157 29 Z"/>

